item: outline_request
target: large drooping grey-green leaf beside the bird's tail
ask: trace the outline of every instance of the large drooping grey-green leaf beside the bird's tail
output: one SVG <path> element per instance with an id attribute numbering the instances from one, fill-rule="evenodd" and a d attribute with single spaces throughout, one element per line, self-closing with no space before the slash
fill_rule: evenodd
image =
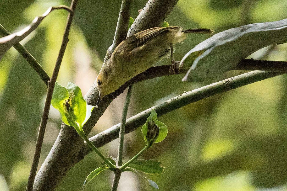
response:
<path id="1" fill-rule="evenodd" d="M 282 42 L 287 42 L 287 19 L 222 31 L 199 43 L 183 57 L 184 67 L 192 64 L 183 81 L 215 78 L 253 52 Z"/>

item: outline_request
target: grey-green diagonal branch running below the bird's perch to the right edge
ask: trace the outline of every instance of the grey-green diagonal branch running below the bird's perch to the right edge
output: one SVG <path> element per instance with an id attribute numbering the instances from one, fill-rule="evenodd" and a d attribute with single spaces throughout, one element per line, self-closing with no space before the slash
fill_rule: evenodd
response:
<path id="1" fill-rule="evenodd" d="M 283 72 L 274 72 L 274 71 L 251 71 L 245 74 L 241 74 L 238 76 L 234 76 L 207 86 L 203 86 L 201 88 L 197 88 L 195 90 L 185 92 L 177 97 L 166 100 L 165 102 L 155 105 L 152 107 L 158 117 L 174 111 L 175 109 L 181 108 L 190 103 L 194 103 L 196 101 L 202 100 L 207 97 L 211 97 L 215 94 L 227 92 L 229 90 L 245 86 L 247 84 L 252 84 L 254 82 L 258 82 L 260 80 L 264 80 L 267 78 L 272 78 L 275 76 L 279 76 L 284 74 Z M 125 133 L 130 133 L 143 125 L 146 122 L 147 117 L 150 115 L 151 109 L 146 109 L 137 115 L 130 117 L 126 121 Z M 114 139 L 117 139 L 119 135 L 119 126 L 120 124 L 114 125 L 109 129 L 102 131 L 101 133 L 90 138 L 90 141 L 98 148 L 101 147 Z M 79 156 L 84 157 L 91 151 L 88 145 L 85 145 L 85 148 L 82 150 L 82 153 L 79 153 Z"/>

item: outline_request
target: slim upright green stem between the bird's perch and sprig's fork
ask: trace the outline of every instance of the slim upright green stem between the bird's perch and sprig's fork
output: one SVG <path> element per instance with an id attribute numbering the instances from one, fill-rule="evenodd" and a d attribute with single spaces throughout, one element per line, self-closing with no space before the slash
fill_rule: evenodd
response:
<path id="1" fill-rule="evenodd" d="M 124 104 L 124 108 L 123 108 L 120 133 L 119 133 L 119 149 L 118 149 L 118 157 L 117 157 L 117 168 L 119 168 L 123 164 L 125 121 L 127 119 L 127 110 L 129 108 L 129 102 L 131 100 L 131 90 L 132 90 L 132 86 L 129 86 L 129 90 L 127 92 L 127 96 L 126 96 L 126 100 L 125 100 L 125 104 Z"/>

